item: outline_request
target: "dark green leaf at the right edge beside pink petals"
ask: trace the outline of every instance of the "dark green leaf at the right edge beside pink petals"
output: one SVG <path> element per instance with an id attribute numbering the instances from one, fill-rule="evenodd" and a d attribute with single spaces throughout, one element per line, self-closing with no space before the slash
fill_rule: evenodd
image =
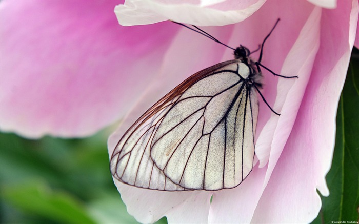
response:
<path id="1" fill-rule="evenodd" d="M 353 54 L 358 54 L 354 49 Z M 330 195 L 313 223 L 357 221 L 359 207 L 359 60 L 352 57 L 336 116 L 332 167 L 326 176 Z"/>

